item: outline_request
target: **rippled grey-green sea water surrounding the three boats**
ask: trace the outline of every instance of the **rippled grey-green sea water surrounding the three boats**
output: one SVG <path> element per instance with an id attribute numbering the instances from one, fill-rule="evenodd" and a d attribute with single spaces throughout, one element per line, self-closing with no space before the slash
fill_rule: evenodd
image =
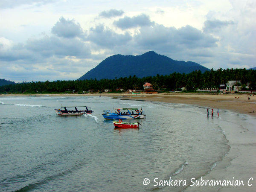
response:
<path id="1" fill-rule="evenodd" d="M 61 105 L 94 113 L 58 116 Z M 115 129 L 102 117 L 114 107 L 142 107 L 146 118 L 136 121 L 143 126 Z M 184 191 L 153 180 L 189 185 L 207 175 L 230 149 L 224 119 L 239 124 L 244 117 L 221 111 L 207 118 L 206 109 L 97 96 L 0 97 L 0 191 Z M 151 183 L 143 185 L 145 178 Z"/>

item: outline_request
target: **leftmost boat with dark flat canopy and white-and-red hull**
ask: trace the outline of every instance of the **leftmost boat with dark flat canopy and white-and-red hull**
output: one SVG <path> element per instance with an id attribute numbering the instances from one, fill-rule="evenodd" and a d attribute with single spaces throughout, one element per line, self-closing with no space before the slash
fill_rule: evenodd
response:
<path id="1" fill-rule="evenodd" d="M 72 108 L 72 110 L 70 110 Z M 78 109 L 81 108 L 81 109 Z M 92 114 L 93 111 L 89 110 L 87 106 L 75 106 L 75 107 L 62 107 L 60 109 L 55 109 L 57 115 L 66 115 L 66 116 L 76 116 L 76 115 L 83 115 L 85 113 Z"/>

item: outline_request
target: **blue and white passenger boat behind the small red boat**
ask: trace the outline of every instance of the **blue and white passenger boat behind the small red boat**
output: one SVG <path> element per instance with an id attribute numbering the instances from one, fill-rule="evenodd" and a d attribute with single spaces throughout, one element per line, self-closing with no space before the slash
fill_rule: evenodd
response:
<path id="1" fill-rule="evenodd" d="M 102 116 L 107 120 L 113 119 L 141 119 L 145 118 L 143 111 L 138 108 L 115 108 L 115 113 L 110 110 L 103 110 Z"/>

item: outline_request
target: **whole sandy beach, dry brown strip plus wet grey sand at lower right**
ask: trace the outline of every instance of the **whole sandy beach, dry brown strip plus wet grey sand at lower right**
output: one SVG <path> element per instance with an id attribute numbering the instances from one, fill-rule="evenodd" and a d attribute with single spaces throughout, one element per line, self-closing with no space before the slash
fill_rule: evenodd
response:
<path id="1" fill-rule="evenodd" d="M 0 96 L 29 96 L 16 94 L 2 94 Z M 34 94 L 33 94 L 34 96 Z M 36 94 L 36 96 L 46 96 Z M 197 105 L 214 109 L 217 116 L 217 108 L 221 111 L 228 110 L 240 117 L 242 122 L 239 126 L 233 126 L 234 122 L 224 119 L 219 122 L 227 145 L 230 149 L 228 153 L 216 163 L 212 170 L 204 175 L 204 180 L 243 180 L 242 186 L 207 187 L 201 186 L 187 187 L 185 191 L 219 191 L 219 192 L 253 192 L 256 191 L 256 96 L 246 94 L 206 94 L 206 93 L 159 93 L 159 94 L 137 94 L 129 93 L 94 93 L 94 94 L 50 94 L 49 96 L 109 96 L 118 99 L 143 100 L 149 102 L 166 102 Z M 250 97 L 250 100 L 248 100 Z M 207 117 L 206 117 L 207 118 Z M 227 126 L 227 124 L 229 126 Z M 200 122 L 198 122 L 200 126 Z M 230 126 L 231 125 L 231 126 Z M 253 178 L 253 179 L 252 179 Z M 190 178 L 189 178 L 190 179 Z M 196 178 L 201 179 L 201 178 Z M 250 186 L 251 185 L 251 186 Z"/>

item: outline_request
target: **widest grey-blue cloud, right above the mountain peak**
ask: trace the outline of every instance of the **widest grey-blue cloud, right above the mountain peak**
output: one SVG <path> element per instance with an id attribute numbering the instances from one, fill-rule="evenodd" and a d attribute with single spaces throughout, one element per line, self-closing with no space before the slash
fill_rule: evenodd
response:
<path id="1" fill-rule="evenodd" d="M 211 35 L 206 35 L 200 30 L 185 26 L 180 29 L 175 27 L 165 27 L 156 24 L 153 27 L 142 27 L 140 33 L 134 39 L 143 47 L 163 47 L 175 52 L 180 49 L 195 49 L 204 47 L 216 47 L 218 39 Z"/>

